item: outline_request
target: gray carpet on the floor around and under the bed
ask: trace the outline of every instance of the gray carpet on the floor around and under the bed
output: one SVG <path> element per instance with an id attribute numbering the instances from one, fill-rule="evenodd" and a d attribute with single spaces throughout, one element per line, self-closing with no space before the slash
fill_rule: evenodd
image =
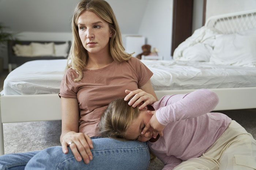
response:
<path id="1" fill-rule="evenodd" d="M 256 139 L 256 109 L 218 111 L 240 123 Z M 61 121 L 4 123 L 5 154 L 42 150 L 60 145 Z M 161 170 L 159 159 L 150 162 L 148 170 Z"/>

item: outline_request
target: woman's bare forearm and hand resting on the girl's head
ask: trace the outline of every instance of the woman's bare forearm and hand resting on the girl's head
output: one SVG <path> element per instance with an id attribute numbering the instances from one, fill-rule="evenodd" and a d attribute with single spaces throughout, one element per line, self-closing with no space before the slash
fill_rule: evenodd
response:
<path id="1" fill-rule="evenodd" d="M 155 94 L 154 88 L 151 84 L 151 81 L 148 80 L 146 84 L 143 86 L 139 87 L 140 89 L 130 91 L 130 90 L 125 90 L 125 93 L 127 96 L 125 96 L 124 100 L 127 101 L 130 99 L 132 96 L 133 98 L 129 102 L 129 105 L 132 107 L 138 106 L 141 102 L 144 102 L 139 109 L 142 109 L 146 107 L 147 105 L 153 104 L 158 101 L 157 95 Z"/>

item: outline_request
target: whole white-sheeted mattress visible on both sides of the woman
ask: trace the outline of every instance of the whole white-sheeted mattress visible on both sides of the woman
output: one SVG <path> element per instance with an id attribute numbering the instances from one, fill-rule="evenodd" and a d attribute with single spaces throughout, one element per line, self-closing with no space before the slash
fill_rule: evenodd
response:
<path id="1" fill-rule="evenodd" d="M 206 62 L 142 60 L 154 73 L 154 90 L 256 87 L 256 68 Z M 35 60 L 13 70 L 4 95 L 57 94 L 67 60 Z"/>

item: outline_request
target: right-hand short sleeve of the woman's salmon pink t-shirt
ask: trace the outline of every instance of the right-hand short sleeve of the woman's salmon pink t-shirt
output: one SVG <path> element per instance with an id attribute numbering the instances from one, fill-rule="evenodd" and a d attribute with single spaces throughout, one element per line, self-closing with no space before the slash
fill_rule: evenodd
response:
<path id="1" fill-rule="evenodd" d="M 145 64 L 139 59 L 132 57 L 132 65 L 135 66 L 135 71 L 138 77 L 138 87 L 142 87 L 153 76 L 153 72 L 150 71 Z"/>

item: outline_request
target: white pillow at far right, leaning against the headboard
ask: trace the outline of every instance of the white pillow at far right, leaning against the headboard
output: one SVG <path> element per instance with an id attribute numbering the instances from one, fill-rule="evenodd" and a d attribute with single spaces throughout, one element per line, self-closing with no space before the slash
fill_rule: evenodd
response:
<path id="1" fill-rule="evenodd" d="M 211 63 L 256 66 L 256 28 L 216 37 Z"/>

